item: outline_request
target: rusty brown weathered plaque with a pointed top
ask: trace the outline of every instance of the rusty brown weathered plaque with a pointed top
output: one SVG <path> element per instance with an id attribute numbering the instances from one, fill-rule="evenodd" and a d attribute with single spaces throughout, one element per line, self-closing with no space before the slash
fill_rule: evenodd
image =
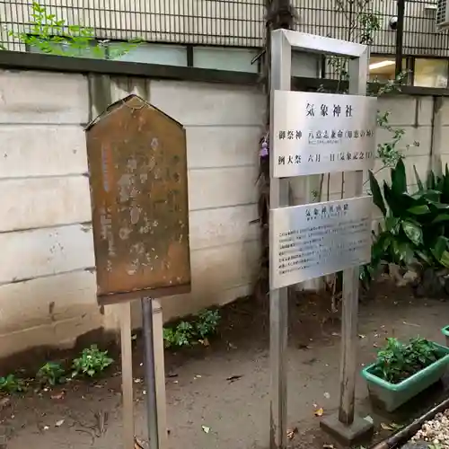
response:
<path id="1" fill-rule="evenodd" d="M 86 129 L 101 304 L 188 293 L 186 135 L 140 97 Z"/>

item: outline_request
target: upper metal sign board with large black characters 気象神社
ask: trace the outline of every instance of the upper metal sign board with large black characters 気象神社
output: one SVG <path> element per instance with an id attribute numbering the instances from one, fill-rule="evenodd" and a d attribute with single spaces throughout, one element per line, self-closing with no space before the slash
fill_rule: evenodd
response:
<path id="1" fill-rule="evenodd" d="M 376 113 L 373 97 L 275 91 L 273 176 L 371 169 Z"/>

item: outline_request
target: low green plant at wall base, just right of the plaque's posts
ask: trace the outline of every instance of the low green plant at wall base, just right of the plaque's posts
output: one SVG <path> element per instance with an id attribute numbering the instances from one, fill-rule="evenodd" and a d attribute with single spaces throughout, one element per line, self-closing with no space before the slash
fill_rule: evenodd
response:
<path id="1" fill-rule="evenodd" d="M 163 339 L 166 348 L 192 346 L 199 340 L 216 333 L 216 328 L 220 321 L 218 311 L 204 310 L 198 313 L 191 322 L 180 321 L 173 328 L 163 329 Z"/>

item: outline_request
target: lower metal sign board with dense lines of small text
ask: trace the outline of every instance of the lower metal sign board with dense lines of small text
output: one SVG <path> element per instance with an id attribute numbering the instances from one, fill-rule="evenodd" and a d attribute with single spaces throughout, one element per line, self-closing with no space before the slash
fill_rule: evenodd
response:
<path id="1" fill-rule="evenodd" d="M 281 288 L 371 260 L 369 196 L 270 210 L 270 288 Z"/>

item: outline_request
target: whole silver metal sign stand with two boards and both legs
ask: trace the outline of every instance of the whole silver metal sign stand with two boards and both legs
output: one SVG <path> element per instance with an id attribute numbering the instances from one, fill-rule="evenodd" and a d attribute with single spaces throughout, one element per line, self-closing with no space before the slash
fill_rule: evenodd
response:
<path id="1" fill-rule="evenodd" d="M 349 93 L 290 91 L 291 51 L 348 57 Z M 287 177 L 345 173 L 345 198 L 362 193 L 374 163 L 375 99 L 365 99 L 368 49 L 297 31 L 271 33 L 270 123 L 270 448 L 286 448 L 287 286 L 340 269 L 343 312 L 339 413 L 321 426 L 352 442 L 370 432 L 355 418 L 358 266 L 369 260 L 370 198 L 288 206 Z M 353 95 L 357 95 L 354 97 Z M 354 172 L 356 171 L 356 172 Z"/>

